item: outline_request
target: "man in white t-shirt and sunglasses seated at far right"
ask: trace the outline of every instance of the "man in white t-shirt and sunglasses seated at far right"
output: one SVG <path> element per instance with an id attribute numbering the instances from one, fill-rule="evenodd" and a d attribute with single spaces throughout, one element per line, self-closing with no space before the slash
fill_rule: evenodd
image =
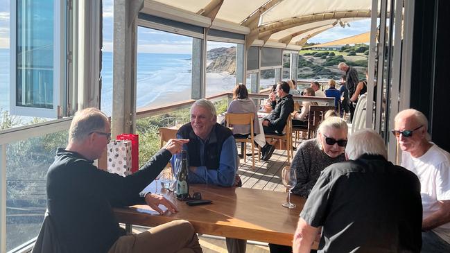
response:
<path id="1" fill-rule="evenodd" d="M 422 252 L 450 252 L 450 154 L 429 141 L 426 116 L 414 109 L 395 116 L 392 133 L 403 154 L 401 166 L 421 183 Z"/>

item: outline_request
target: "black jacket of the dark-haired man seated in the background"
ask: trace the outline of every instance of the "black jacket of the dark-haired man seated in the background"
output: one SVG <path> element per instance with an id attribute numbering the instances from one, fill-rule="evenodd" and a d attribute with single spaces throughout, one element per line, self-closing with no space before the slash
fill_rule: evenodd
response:
<path id="1" fill-rule="evenodd" d="M 278 101 L 272 101 L 272 108 L 275 109 L 266 117 L 269 121 L 269 128 L 282 133 L 289 114 L 294 111 L 294 100 L 292 99 L 292 95 L 288 94 L 279 98 Z"/>

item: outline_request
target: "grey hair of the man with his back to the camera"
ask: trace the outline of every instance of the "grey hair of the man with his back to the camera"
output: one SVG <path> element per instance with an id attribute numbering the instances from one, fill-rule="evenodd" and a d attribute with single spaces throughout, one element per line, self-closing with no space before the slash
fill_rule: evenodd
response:
<path id="1" fill-rule="evenodd" d="M 388 159 L 388 151 L 384 145 L 383 138 L 378 132 L 370 128 L 365 128 L 350 135 L 345 147 L 345 153 L 351 160 L 358 159 L 361 155 L 382 155 Z"/>

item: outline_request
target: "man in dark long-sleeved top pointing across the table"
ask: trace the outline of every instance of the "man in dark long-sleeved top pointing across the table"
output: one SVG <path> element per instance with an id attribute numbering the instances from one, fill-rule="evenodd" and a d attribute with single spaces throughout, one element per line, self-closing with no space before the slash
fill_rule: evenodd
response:
<path id="1" fill-rule="evenodd" d="M 146 203 L 159 213 L 163 213 L 160 204 L 171 213 L 177 212 L 175 205 L 162 195 L 141 191 L 187 140 L 171 139 L 139 171 L 122 177 L 93 164 L 105 152 L 110 139 L 110 123 L 103 112 L 87 108 L 73 116 L 69 143 L 65 149 L 58 148 L 46 176 L 49 218 L 44 219 L 42 227 L 46 229 L 41 233 L 51 233 L 48 229 L 53 225 L 58 243 L 40 236 L 42 241 L 38 239 L 36 243 L 40 252 L 56 244 L 63 252 L 74 253 L 202 252 L 196 232 L 185 220 L 127 235 L 112 211 L 113 207 Z"/>

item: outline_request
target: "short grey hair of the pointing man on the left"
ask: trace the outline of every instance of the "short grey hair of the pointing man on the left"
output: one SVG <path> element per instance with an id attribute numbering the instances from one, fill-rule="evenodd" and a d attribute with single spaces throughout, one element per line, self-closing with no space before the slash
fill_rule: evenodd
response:
<path id="1" fill-rule="evenodd" d="M 104 130 L 107 116 L 97 108 L 91 107 L 76 112 L 69 128 L 69 143 L 83 141 L 96 130 Z"/>

